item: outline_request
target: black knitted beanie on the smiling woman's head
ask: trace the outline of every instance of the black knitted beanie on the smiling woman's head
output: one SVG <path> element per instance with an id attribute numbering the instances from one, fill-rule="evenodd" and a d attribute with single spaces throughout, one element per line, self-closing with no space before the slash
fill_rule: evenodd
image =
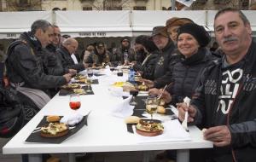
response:
<path id="1" fill-rule="evenodd" d="M 182 33 L 191 34 L 201 47 L 206 47 L 211 41 L 211 36 L 203 26 L 197 24 L 185 24 L 177 29 L 177 38 Z"/>

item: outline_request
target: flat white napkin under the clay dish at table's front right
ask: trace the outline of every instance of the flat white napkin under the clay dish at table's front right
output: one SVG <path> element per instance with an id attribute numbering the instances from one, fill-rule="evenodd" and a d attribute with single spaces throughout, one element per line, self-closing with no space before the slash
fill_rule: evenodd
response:
<path id="1" fill-rule="evenodd" d="M 187 131 L 185 131 L 178 120 L 169 120 L 163 123 L 164 132 L 159 136 L 141 136 L 138 135 L 133 127 L 134 134 L 137 136 L 138 143 L 147 142 L 175 142 L 175 141 L 190 141 L 191 137 Z"/>

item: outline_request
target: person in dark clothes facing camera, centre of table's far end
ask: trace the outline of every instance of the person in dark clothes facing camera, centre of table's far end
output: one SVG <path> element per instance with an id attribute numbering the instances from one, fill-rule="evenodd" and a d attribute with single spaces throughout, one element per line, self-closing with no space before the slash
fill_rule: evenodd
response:
<path id="1" fill-rule="evenodd" d="M 111 55 L 111 63 L 113 66 L 127 66 L 132 61 L 135 61 L 135 51 L 131 48 L 129 38 L 122 38 L 120 47 Z"/>

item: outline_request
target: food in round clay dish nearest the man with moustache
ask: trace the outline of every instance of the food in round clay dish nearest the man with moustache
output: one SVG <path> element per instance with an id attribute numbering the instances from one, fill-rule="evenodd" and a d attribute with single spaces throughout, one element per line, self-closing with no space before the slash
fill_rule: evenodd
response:
<path id="1" fill-rule="evenodd" d="M 159 122 L 140 119 L 136 125 L 136 132 L 142 136 L 159 136 L 164 132 L 164 126 Z"/>

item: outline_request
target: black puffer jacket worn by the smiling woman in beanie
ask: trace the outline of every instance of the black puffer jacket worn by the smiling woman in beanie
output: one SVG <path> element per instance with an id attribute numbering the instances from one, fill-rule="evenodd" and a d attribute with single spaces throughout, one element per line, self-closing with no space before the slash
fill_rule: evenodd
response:
<path id="1" fill-rule="evenodd" d="M 194 93 L 196 82 L 201 77 L 201 72 L 213 59 L 212 55 L 206 55 L 206 49 L 199 51 L 191 57 L 175 63 L 172 67 L 171 85 L 166 89 L 172 95 L 172 105 L 183 102 L 183 98 Z"/>

